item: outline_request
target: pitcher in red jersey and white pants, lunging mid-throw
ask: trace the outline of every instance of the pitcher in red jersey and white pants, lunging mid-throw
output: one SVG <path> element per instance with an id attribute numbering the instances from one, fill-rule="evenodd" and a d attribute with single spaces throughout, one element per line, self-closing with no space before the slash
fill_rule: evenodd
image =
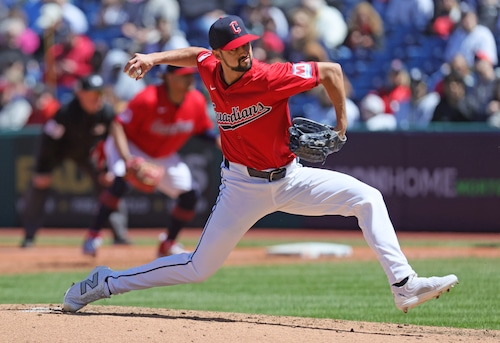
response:
<path id="1" fill-rule="evenodd" d="M 142 70 L 136 78 L 144 77 L 155 64 L 198 67 L 221 134 L 224 161 L 219 195 L 193 252 L 127 270 L 96 267 L 68 289 L 64 311 L 75 312 L 95 300 L 133 290 L 202 282 L 223 265 L 259 219 L 276 211 L 356 217 L 385 272 L 396 307 L 404 312 L 439 297 L 458 282 L 453 274 L 417 276 L 400 248 L 380 191 L 343 173 L 303 166 L 290 150 L 291 134 L 298 136 L 294 138 L 298 144 L 307 144 L 308 137 L 325 138 L 328 149 L 316 151 L 319 146 L 310 144 L 311 159 L 319 161 L 346 143 L 341 66 L 333 62 L 267 64 L 253 58 L 250 42 L 256 39 L 259 37 L 247 33 L 241 18 L 226 16 L 210 28 L 212 51 L 189 47 L 135 54 L 127 63 L 124 72 L 130 75 Z M 288 99 L 320 83 L 335 107 L 335 134 L 304 121 L 295 122 L 290 129 Z M 296 149 L 296 144 L 291 148 Z M 332 275 L 331 282 L 335 281 Z M 371 285 L 365 287 L 369 293 Z M 365 306 L 370 306 L 369 299 Z"/>

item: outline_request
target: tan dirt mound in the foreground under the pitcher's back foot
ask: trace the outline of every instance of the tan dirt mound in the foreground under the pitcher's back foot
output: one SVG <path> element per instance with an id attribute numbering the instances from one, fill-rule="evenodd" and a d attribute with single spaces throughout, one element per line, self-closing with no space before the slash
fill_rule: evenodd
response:
<path id="1" fill-rule="evenodd" d="M 9 332 L 11 342 L 496 343 L 500 340 L 498 331 L 92 305 L 76 314 L 63 313 L 58 306 L 0 305 L 0 323 L 6 329 L 2 332 Z"/>

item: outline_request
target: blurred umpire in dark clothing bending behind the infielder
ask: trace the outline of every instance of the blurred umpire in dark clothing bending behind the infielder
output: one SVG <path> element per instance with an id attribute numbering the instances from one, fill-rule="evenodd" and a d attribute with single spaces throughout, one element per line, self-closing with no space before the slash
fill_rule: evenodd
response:
<path id="1" fill-rule="evenodd" d="M 35 169 L 24 195 L 22 221 L 24 239 L 21 247 L 34 244 L 36 232 L 43 224 L 44 207 L 52 184 L 52 171 L 63 160 L 73 160 L 80 170 L 89 174 L 97 191 L 112 182 L 101 150 L 115 118 L 112 107 L 104 102 L 104 82 L 91 74 L 77 83 L 74 97 L 62 106 L 43 126 L 38 145 Z M 115 244 L 129 244 L 125 204 L 117 204 L 110 216 Z"/>

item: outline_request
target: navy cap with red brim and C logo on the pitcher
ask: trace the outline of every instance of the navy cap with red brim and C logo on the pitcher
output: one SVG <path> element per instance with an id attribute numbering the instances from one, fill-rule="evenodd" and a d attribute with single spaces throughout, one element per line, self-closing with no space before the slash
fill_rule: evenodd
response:
<path id="1" fill-rule="evenodd" d="M 214 50 L 236 49 L 259 38 L 257 35 L 248 33 L 243 20 L 236 15 L 217 19 L 208 31 L 208 40 Z"/>

